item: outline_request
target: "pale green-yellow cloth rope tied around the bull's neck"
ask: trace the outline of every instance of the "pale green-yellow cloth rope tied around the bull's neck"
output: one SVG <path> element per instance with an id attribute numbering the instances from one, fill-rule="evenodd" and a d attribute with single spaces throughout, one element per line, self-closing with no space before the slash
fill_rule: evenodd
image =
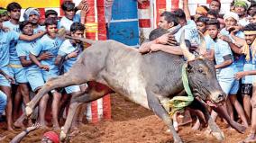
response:
<path id="1" fill-rule="evenodd" d="M 190 90 L 186 72 L 187 64 L 182 66 L 182 83 L 187 93 L 187 96 L 175 96 L 169 100 L 169 115 L 172 116 L 175 112 L 184 112 L 184 108 L 194 101 L 194 96 Z"/>

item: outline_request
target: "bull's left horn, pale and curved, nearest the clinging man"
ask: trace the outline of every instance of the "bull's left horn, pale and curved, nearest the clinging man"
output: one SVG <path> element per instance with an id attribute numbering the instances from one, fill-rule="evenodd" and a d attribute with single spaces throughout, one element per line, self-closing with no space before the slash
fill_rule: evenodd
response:
<path id="1" fill-rule="evenodd" d="M 187 60 L 193 60 L 195 59 L 195 55 L 189 52 L 187 49 L 186 43 L 185 43 L 185 30 L 181 32 L 180 40 L 179 40 L 179 46 L 180 49 L 182 50 L 182 53 Z"/>

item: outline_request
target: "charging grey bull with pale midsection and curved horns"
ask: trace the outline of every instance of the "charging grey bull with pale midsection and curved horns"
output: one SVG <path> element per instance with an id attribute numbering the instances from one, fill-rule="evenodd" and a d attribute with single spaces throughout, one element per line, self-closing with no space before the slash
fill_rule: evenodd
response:
<path id="1" fill-rule="evenodd" d="M 209 128 L 219 140 L 224 139 L 224 133 L 213 121 L 201 100 L 214 105 L 212 106 L 213 110 L 224 117 L 235 130 L 244 132 L 245 128 L 232 121 L 228 113 L 225 112 L 224 106 L 220 104 L 224 103 L 225 94 L 217 82 L 213 62 L 206 58 L 193 57 L 187 50 L 184 32 L 181 35 L 180 47 L 184 57 L 188 59 L 187 61 L 180 56 L 161 51 L 142 55 L 138 49 L 133 49 L 114 40 L 80 40 L 92 45 L 83 51 L 68 73 L 51 78 L 43 85 L 40 92 L 25 108 L 26 115 L 29 116 L 42 95 L 50 90 L 89 83 L 86 93 L 71 99 L 68 119 L 60 132 L 61 140 L 66 139 L 79 104 L 95 101 L 113 90 L 154 112 L 169 127 L 174 142 L 182 142 L 174 130 L 169 117 L 169 107 L 166 104 L 176 95 L 186 95 L 181 80 L 181 70 L 184 64 L 187 64 L 188 85 L 192 93 L 200 99 L 195 99 L 189 108 L 204 113 Z M 201 41 L 199 49 L 206 49 L 202 35 Z M 109 88 L 97 90 L 96 85 L 106 85 Z"/>

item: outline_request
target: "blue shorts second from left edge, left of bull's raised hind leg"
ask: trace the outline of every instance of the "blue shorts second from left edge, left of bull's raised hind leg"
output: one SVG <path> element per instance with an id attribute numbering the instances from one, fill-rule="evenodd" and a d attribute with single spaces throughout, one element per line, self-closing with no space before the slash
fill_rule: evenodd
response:
<path id="1" fill-rule="evenodd" d="M 9 67 L 10 76 L 15 79 L 15 84 L 28 83 L 25 69 L 23 67 Z"/>

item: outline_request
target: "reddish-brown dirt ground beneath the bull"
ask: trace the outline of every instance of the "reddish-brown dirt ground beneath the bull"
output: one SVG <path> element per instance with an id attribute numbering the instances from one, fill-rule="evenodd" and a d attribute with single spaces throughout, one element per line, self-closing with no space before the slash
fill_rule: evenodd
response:
<path id="1" fill-rule="evenodd" d="M 79 128 L 80 133 L 72 137 L 73 143 L 171 143 L 173 139 L 167 126 L 160 121 L 151 111 L 141 106 L 131 103 L 123 96 L 112 94 L 112 120 L 100 121 L 96 125 L 85 124 Z M 218 125 L 224 130 L 224 143 L 237 143 L 245 139 L 250 131 L 239 134 L 235 130 L 226 128 L 223 122 L 218 121 Z M 5 124 L 0 124 L 0 134 L 5 135 L 1 143 L 7 143 L 14 136 L 21 132 L 5 131 Z M 201 131 L 191 130 L 189 125 L 181 127 L 178 134 L 185 143 L 215 143 L 219 142 L 210 135 Z M 32 131 L 23 139 L 23 143 L 40 142 L 41 136 L 48 130 Z"/>

